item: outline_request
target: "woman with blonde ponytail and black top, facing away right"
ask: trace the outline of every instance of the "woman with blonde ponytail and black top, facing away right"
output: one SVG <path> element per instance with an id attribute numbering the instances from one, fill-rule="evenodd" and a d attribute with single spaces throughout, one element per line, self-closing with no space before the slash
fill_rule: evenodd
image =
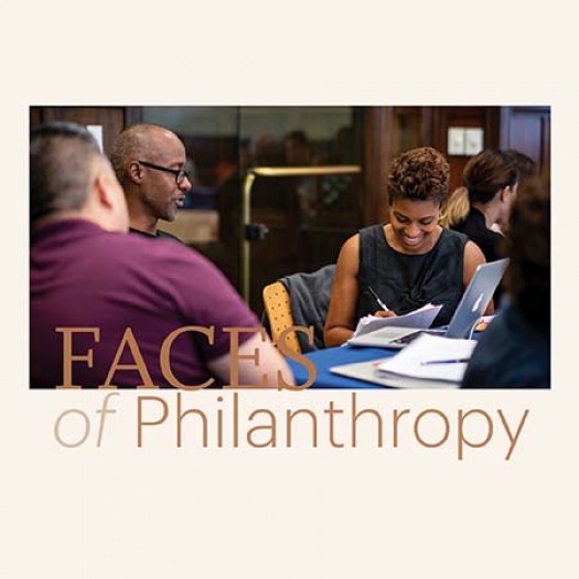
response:
<path id="1" fill-rule="evenodd" d="M 517 162 L 505 151 L 485 149 L 469 160 L 463 182 L 464 186 L 450 195 L 440 224 L 468 235 L 486 261 L 495 261 L 505 243 L 495 227 L 508 222 L 517 192 Z"/>

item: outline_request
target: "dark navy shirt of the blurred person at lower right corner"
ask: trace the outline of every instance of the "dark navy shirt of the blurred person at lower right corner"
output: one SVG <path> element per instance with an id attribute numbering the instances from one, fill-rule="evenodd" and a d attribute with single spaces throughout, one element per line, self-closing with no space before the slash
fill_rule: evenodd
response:
<path id="1" fill-rule="evenodd" d="M 549 388 L 549 331 L 539 331 L 506 305 L 480 337 L 462 387 Z"/>

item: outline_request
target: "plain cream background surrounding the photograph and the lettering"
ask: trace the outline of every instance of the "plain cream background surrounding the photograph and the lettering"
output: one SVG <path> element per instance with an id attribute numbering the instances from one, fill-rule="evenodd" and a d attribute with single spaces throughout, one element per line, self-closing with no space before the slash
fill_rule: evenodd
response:
<path id="1" fill-rule="evenodd" d="M 571 4 L 83 4 L 0 9 L 0 576 L 576 578 Z M 513 459 L 498 443 L 462 462 L 411 446 L 191 451 L 169 433 L 137 449 L 128 393 L 100 449 L 55 443 L 60 412 L 96 416 L 103 398 L 26 385 L 28 107 L 66 103 L 551 105 L 553 390 L 365 397 L 415 412 L 528 408 Z M 283 408 L 271 394 L 256 404 Z M 307 396 L 313 408 L 347 394 Z"/>

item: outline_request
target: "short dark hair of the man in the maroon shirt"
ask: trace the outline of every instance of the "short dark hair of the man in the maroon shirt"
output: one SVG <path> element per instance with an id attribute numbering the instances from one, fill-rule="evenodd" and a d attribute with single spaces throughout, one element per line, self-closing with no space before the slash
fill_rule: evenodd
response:
<path id="1" fill-rule="evenodd" d="M 103 157 L 90 131 L 75 122 L 50 122 L 30 132 L 30 221 L 82 210 L 92 161 Z"/>

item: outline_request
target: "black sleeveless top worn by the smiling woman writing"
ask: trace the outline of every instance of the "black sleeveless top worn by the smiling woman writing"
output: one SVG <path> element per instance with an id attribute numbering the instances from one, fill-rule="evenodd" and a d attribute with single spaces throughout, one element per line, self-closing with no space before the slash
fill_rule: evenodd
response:
<path id="1" fill-rule="evenodd" d="M 442 304 L 432 325 L 450 322 L 463 293 L 464 246 L 469 238 L 442 229 L 435 247 L 422 255 L 400 254 L 384 234 L 384 224 L 360 230 L 360 294 L 356 318 L 379 310 L 371 287 L 398 315 L 427 303 Z"/>

